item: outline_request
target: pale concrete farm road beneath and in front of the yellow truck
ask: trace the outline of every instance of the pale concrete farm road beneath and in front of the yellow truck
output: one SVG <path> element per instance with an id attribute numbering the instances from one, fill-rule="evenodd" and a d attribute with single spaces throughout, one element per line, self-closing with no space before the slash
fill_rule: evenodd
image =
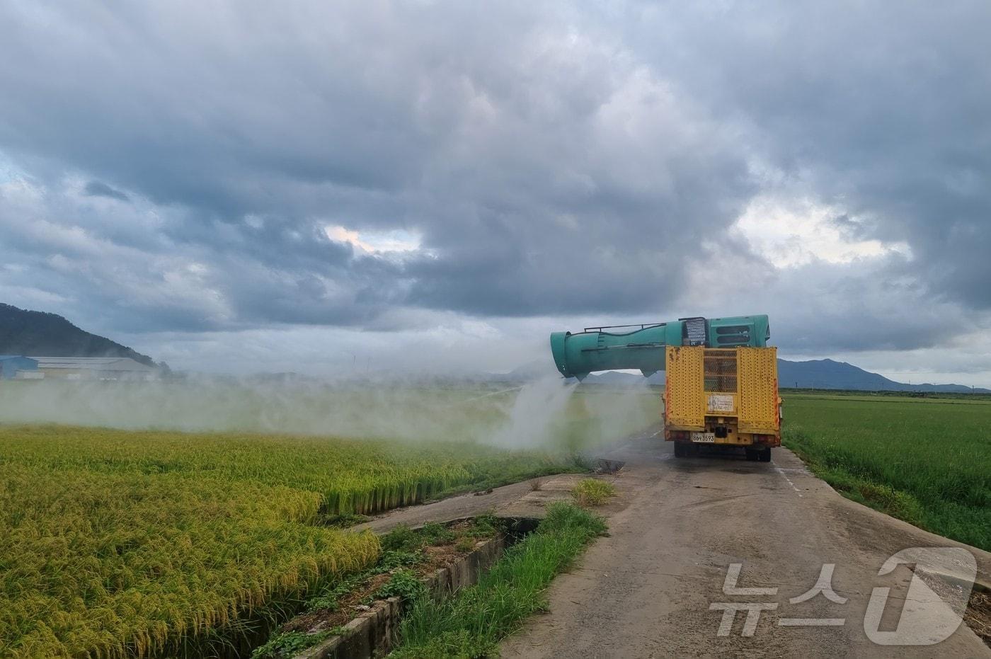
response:
<path id="1" fill-rule="evenodd" d="M 771 464 L 675 459 L 670 443 L 644 436 L 609 457 L 627 461 L 615 481 L 620 495 L 606 508 L 610 536 L 555 581 L 549 612 L 507 639 L 504 657 L 991 656 L 963 624 L 936 645 L 868 638 L 864 618 L 875 587 L 891 587 L 881 631 L 895 628 L 903 605 L 899 629 L 932 623 L 913 622 L 908 568 L 878 577 L 885 560 L 909 547 L 961 545 L 844 499 L 787 450 L 775 449 Z M 991 556 L 973 553 L 979 579 L 988 582 Z M 735 588 L 776 591 L 727 595 L 732 564 L 742 564 Z M 832 597 L 845 603 L 819 594 L 792 604 L 813 588 L 824 564 L 834 564 Z M 747 610 L 719 635 L 727 615 L 719 603 L 767 608 L 757 611 L 752 635 L 742 635 Z"/>

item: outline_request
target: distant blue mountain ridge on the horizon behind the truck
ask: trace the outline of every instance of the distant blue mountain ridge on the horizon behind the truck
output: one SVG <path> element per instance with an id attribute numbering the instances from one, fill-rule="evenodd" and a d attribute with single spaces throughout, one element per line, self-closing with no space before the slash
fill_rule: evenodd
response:
<path id="1" fill-rule="evenodd" d="M 524 381 L 526 376 L 536 373 L 554 371 L 554 366 L 547 363 L 531 363 L 515 371 L 500 376 L 506 381 Z M 618 371 L 592 374 L 586 380 L 595 384 L 641 384 L 643 376 Z M 664 384 L 664 372 L 655 373 L 647 379 L 647 384 Z M 833 360 L 812 360 L 809 362 L 790 362 L 778 360 L 778 384 L 782 388 L 798 386 L 800 388 L 817 389 L 851 389 L 861 391 L 933 391 L 937 393 L 991 393 L 991 389 L 974 387 L 965 384 L 904 384 L 888 380 L 882 375 L 864 371 L 852 364 L 834 362 Z"/>

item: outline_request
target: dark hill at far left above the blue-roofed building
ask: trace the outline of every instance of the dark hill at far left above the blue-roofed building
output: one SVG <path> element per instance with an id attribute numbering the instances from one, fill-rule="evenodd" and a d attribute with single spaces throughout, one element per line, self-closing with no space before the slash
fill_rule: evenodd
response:
<path id="1" fill-rule="evenodd" d="M 85 332 L 55 313 L 0 302 L 0 355 L 38 357 L 130 357 L 156 366 L 148 355 Z"/>

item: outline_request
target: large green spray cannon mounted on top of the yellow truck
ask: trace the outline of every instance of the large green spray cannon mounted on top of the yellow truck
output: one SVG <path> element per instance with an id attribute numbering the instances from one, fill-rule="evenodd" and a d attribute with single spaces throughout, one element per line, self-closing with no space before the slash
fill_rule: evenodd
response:
<path id="1" fill-rule="evenodd" d="M 664 371 L 666 346 L 762 348 L 771 338 L 766 315 L 679 318 L 665 323 L 586 327 L 551 334 L 554 364 L 565 378 L 583 380 L 596 371 L 638 370 L 644 377 Z"/>

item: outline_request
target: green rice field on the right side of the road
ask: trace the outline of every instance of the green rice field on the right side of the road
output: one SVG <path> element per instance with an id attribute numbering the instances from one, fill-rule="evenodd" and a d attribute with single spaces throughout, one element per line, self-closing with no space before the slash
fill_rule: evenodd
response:
<path id="1" fill-rule="evenodd" d="M 991 400 L 788 393 L 785 446 L 833 488 L 991 551 Z"/>

